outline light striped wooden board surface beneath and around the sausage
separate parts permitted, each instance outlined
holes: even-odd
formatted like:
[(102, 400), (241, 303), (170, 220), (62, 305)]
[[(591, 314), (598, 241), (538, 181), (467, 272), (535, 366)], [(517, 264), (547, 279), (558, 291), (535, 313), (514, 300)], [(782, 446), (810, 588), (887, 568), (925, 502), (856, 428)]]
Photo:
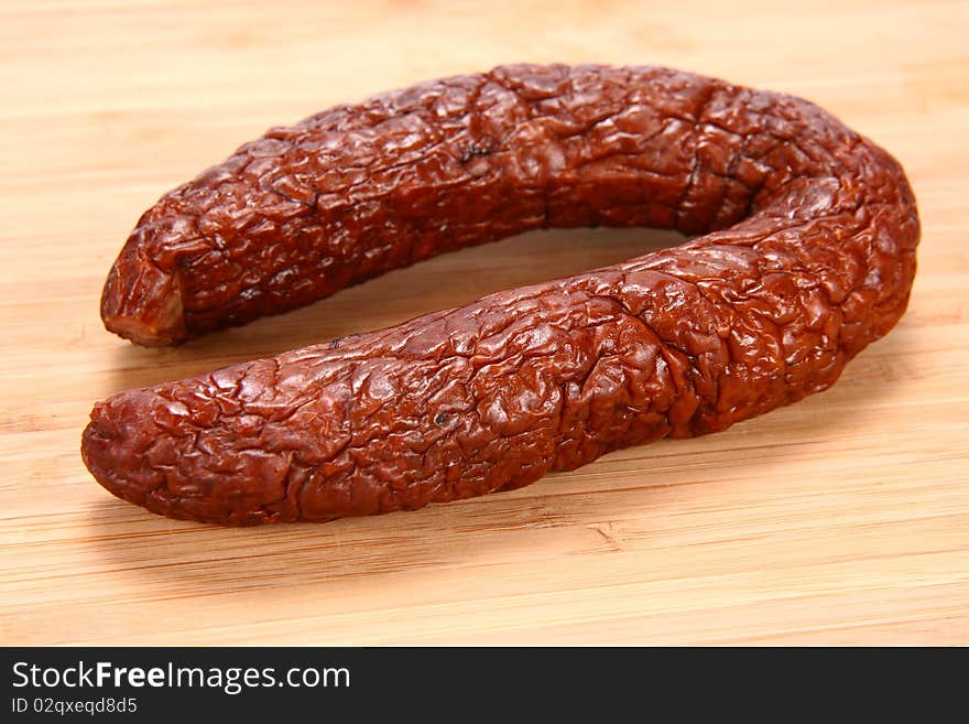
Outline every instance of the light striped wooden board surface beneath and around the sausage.
[[(969, 644), (965, 2), (0, 3), (2, 644)], [(178, 349), (105, 332), (141, 212), (272, 125), (513, 61), (656, 63), (810, 98), (890, 149), (910, 312), (828, 392), (522, 490), (326, 526), (102, 490), (91, 403), (669, 244), (544, 233)]]

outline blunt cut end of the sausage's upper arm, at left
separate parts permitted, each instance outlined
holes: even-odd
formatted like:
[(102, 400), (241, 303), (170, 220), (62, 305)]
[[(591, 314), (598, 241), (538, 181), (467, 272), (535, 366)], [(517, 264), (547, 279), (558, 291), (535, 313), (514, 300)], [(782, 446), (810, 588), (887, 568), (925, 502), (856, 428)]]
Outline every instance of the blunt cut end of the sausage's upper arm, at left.
[(111, 268), (101, 294), (105, 326), (149, 347), (184, 342), (188, 332), (177, 274), (127, 251)]

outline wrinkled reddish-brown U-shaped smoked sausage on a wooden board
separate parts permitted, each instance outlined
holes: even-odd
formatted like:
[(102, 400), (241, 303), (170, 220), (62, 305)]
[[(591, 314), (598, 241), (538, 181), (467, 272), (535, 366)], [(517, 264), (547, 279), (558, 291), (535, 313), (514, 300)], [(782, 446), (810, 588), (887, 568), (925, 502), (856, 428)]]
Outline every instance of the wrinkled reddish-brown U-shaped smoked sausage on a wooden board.
[(535, 227), (674, 249), (97, 404), (88, 468), (196, 520), (330, 520), (532, 483), (830, 386), (903, 314), (900, 165), (820, 108), (662, 68), (510, 66), (338, 107), (166, 195), (111, 270), (144, 344)]

